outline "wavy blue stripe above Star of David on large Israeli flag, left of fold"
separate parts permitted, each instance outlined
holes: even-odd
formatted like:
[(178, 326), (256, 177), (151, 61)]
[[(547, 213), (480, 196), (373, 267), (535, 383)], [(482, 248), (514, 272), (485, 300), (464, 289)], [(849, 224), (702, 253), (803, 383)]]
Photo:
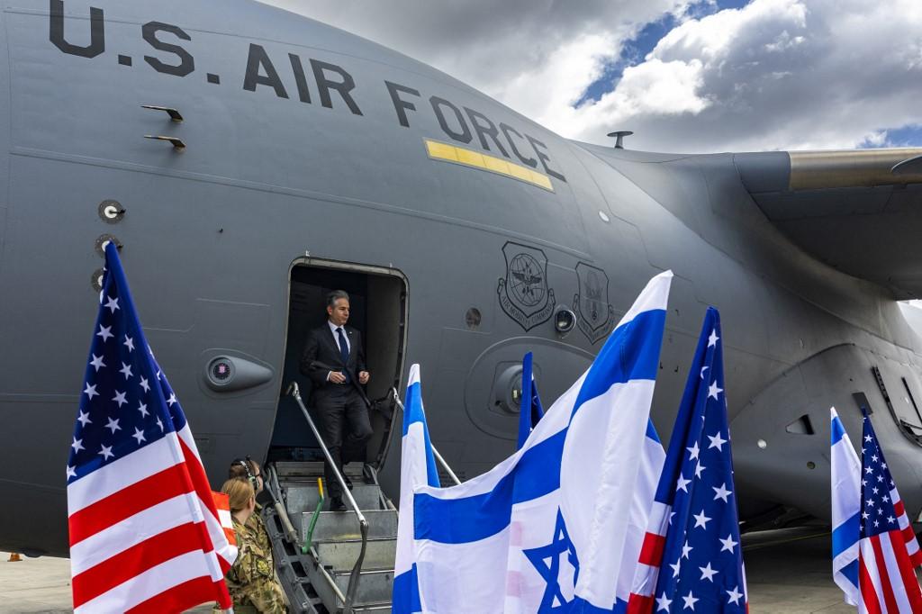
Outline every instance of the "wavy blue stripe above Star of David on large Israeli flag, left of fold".
[(512, 518), (513, 504), (531, 501), (561, 487), (561, 455), (566, 429), (537, 443), (490, 492), (463, 499), (413, 497), (414, 537), (464, 544), (496, 535)]

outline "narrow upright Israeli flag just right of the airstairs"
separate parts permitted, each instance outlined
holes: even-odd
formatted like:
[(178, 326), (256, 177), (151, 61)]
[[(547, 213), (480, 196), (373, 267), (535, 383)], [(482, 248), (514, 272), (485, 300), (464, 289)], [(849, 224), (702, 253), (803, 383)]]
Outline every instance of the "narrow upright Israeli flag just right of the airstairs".
[(422, 407), (420, 365), (409, 368), (404, 403), (403, 441), (400, 446), (400, 515), (397, 518), (397, 551), (394, 564), (394, 612), (420, 612), (416, 544), (413, 541), (413, 490), (439, 488), (439, 472), (429, 441), (426, 412)]

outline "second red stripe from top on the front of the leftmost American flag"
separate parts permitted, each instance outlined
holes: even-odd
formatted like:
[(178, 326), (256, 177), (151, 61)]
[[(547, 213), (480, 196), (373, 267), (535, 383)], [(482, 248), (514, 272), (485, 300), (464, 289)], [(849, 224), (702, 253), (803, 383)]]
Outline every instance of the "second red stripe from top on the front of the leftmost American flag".
[[(193, 523), (175, 526), (78, 573), (73, 581), (74, 608), (147, 572), (151, 567), (196, 550), (198, 531), (199, 527)], [(210, 579), (208, 582), (210, 584)]]

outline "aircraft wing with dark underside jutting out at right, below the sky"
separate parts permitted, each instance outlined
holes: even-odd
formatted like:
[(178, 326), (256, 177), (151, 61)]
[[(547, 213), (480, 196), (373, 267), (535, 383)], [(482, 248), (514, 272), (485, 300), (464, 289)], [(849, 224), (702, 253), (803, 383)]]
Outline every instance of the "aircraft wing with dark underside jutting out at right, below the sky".
[(922, 297), (922, 148), (734, 155), (743, 185), (803, 250)]

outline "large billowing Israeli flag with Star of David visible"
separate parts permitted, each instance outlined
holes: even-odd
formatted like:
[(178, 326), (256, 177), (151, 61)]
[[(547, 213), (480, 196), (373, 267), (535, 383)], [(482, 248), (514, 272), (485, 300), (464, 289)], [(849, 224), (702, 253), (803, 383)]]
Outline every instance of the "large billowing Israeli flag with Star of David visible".
[(439, 489), (420, 452), (404, 458), (393, 611), (624, 611), (663, 464), (649, 413), (671, 280), (647, 284), (588, 372), (490, 472)]

